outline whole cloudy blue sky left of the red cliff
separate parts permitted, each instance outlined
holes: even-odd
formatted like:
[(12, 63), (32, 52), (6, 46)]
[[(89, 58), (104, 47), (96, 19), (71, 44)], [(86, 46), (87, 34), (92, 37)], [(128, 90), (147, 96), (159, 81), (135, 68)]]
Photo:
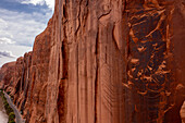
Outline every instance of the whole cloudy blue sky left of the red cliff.
[(53, 9), (54, 0), (0, 0), (0, 67), (33, 50)]

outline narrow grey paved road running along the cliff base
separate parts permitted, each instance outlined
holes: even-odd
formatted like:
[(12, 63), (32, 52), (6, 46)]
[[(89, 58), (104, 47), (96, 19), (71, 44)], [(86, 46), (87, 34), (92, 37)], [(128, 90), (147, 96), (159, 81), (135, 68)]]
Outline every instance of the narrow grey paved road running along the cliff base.
[(16, 109), (16, 106), (13, 104), (12, 100), (10, 99), (9, 95), (4, 93), (4, 97), (7, 98), (7, 101), (9, 102), (10, 107), (13, 109), (16, 118), (16, 123), (25, 123), (24, 120), (21, 116), (21, 113)]

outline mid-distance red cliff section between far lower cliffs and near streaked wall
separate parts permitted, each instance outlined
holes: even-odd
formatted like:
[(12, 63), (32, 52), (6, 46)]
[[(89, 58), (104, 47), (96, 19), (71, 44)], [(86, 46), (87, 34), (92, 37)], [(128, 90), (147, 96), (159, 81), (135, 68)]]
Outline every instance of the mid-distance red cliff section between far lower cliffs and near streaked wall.
[(34, 44), (27, 100), (24, 110), (25, 119), (30, 123), (46, 122), (50, 50), (53, 47), (51, 37), (52, 20), (49, 21), (45, 32), (36, 37)]

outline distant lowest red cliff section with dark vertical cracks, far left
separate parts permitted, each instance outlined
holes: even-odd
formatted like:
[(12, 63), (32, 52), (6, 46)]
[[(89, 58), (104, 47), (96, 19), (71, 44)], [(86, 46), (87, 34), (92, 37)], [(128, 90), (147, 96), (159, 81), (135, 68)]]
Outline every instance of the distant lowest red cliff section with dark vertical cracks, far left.
[(24, 58), (18, 58), (16, 62), (4, 64), (0, 74), (2, 77), (1, 88), (12, 98), (12, 101), (21, 112), (24, 111), (27, 99), (28, 74), (32, 63), (32, 52), (25, 53)]

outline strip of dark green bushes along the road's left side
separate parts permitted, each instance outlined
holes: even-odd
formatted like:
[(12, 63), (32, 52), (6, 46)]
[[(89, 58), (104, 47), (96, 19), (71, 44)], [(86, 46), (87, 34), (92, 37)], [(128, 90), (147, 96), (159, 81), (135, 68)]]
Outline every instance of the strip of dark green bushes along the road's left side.
[(9, 122), (8, 123), (15, 123), (15, 114), (14, 114), (12, 108), (10, 107), (10, 104), (8, 103), (7, 98), (4, 97), (4, 94), (2, 93), (2, 90), (0, 90), (0, 96), (3, 100), (5, 112), (9, 115)]

